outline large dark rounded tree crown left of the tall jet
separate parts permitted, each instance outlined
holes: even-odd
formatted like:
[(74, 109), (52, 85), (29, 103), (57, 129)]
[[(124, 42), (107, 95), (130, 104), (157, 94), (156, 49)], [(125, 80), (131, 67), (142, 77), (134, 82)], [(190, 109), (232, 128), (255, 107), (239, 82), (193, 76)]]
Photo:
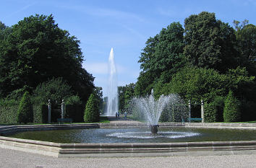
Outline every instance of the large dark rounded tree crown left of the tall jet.
[(52, 15), (25, 17), (0, 40), (0, 92), (27, 86), (30, 91), (53, 77), (62, 77), (86, 101), (93, 76), (82, 68), (77, 37), (61, 30)]

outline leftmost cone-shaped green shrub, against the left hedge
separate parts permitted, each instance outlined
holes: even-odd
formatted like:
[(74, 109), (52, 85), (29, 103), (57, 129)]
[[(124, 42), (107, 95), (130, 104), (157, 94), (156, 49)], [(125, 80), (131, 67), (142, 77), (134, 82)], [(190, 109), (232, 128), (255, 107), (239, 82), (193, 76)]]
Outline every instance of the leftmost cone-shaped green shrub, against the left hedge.
[(23, 94), (17, 112), (17, 123), (33, 123), (33, 106), (28, 92)]

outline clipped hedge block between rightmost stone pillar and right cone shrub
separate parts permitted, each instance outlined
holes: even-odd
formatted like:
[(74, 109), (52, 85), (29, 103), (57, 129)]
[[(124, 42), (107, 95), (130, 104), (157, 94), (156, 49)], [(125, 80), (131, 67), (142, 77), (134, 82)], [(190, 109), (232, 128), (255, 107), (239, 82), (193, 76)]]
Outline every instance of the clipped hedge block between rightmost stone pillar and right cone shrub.
[(205, 122), (206, 123), (213, 123), (217, 121), (217, 108), (214, 102), (205, 103), (204, 105), (205, 110)]

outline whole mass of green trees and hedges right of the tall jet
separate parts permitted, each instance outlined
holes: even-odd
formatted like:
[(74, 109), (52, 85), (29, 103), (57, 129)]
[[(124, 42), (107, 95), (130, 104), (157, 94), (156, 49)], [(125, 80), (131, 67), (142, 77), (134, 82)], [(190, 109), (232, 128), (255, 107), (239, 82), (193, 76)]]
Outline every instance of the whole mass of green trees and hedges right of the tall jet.
[[(145, 43), (133, 96), (154, 89), (156, 98), (174, 93), (192, 103), (204, 100), (208, 122), (256, 120), (255, 40), (256, 27), (247, 20), (231, 27), (201, 12), (186, 18), (184, 27), (172, 22)], [(231, 101), (237, 105), (232, 110)]]

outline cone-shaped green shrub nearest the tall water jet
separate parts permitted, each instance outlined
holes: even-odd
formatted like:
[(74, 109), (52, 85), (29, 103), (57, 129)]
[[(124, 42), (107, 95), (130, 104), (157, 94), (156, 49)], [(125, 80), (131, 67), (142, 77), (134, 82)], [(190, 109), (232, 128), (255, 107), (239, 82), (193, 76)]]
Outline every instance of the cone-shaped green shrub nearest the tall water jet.
[(89, 100), (86, 103), (84, 121), (86, 123), (98, 122), (100, 119), (100, 112), (98, 107), (98, 100), (94, 94), (90, 94)]

